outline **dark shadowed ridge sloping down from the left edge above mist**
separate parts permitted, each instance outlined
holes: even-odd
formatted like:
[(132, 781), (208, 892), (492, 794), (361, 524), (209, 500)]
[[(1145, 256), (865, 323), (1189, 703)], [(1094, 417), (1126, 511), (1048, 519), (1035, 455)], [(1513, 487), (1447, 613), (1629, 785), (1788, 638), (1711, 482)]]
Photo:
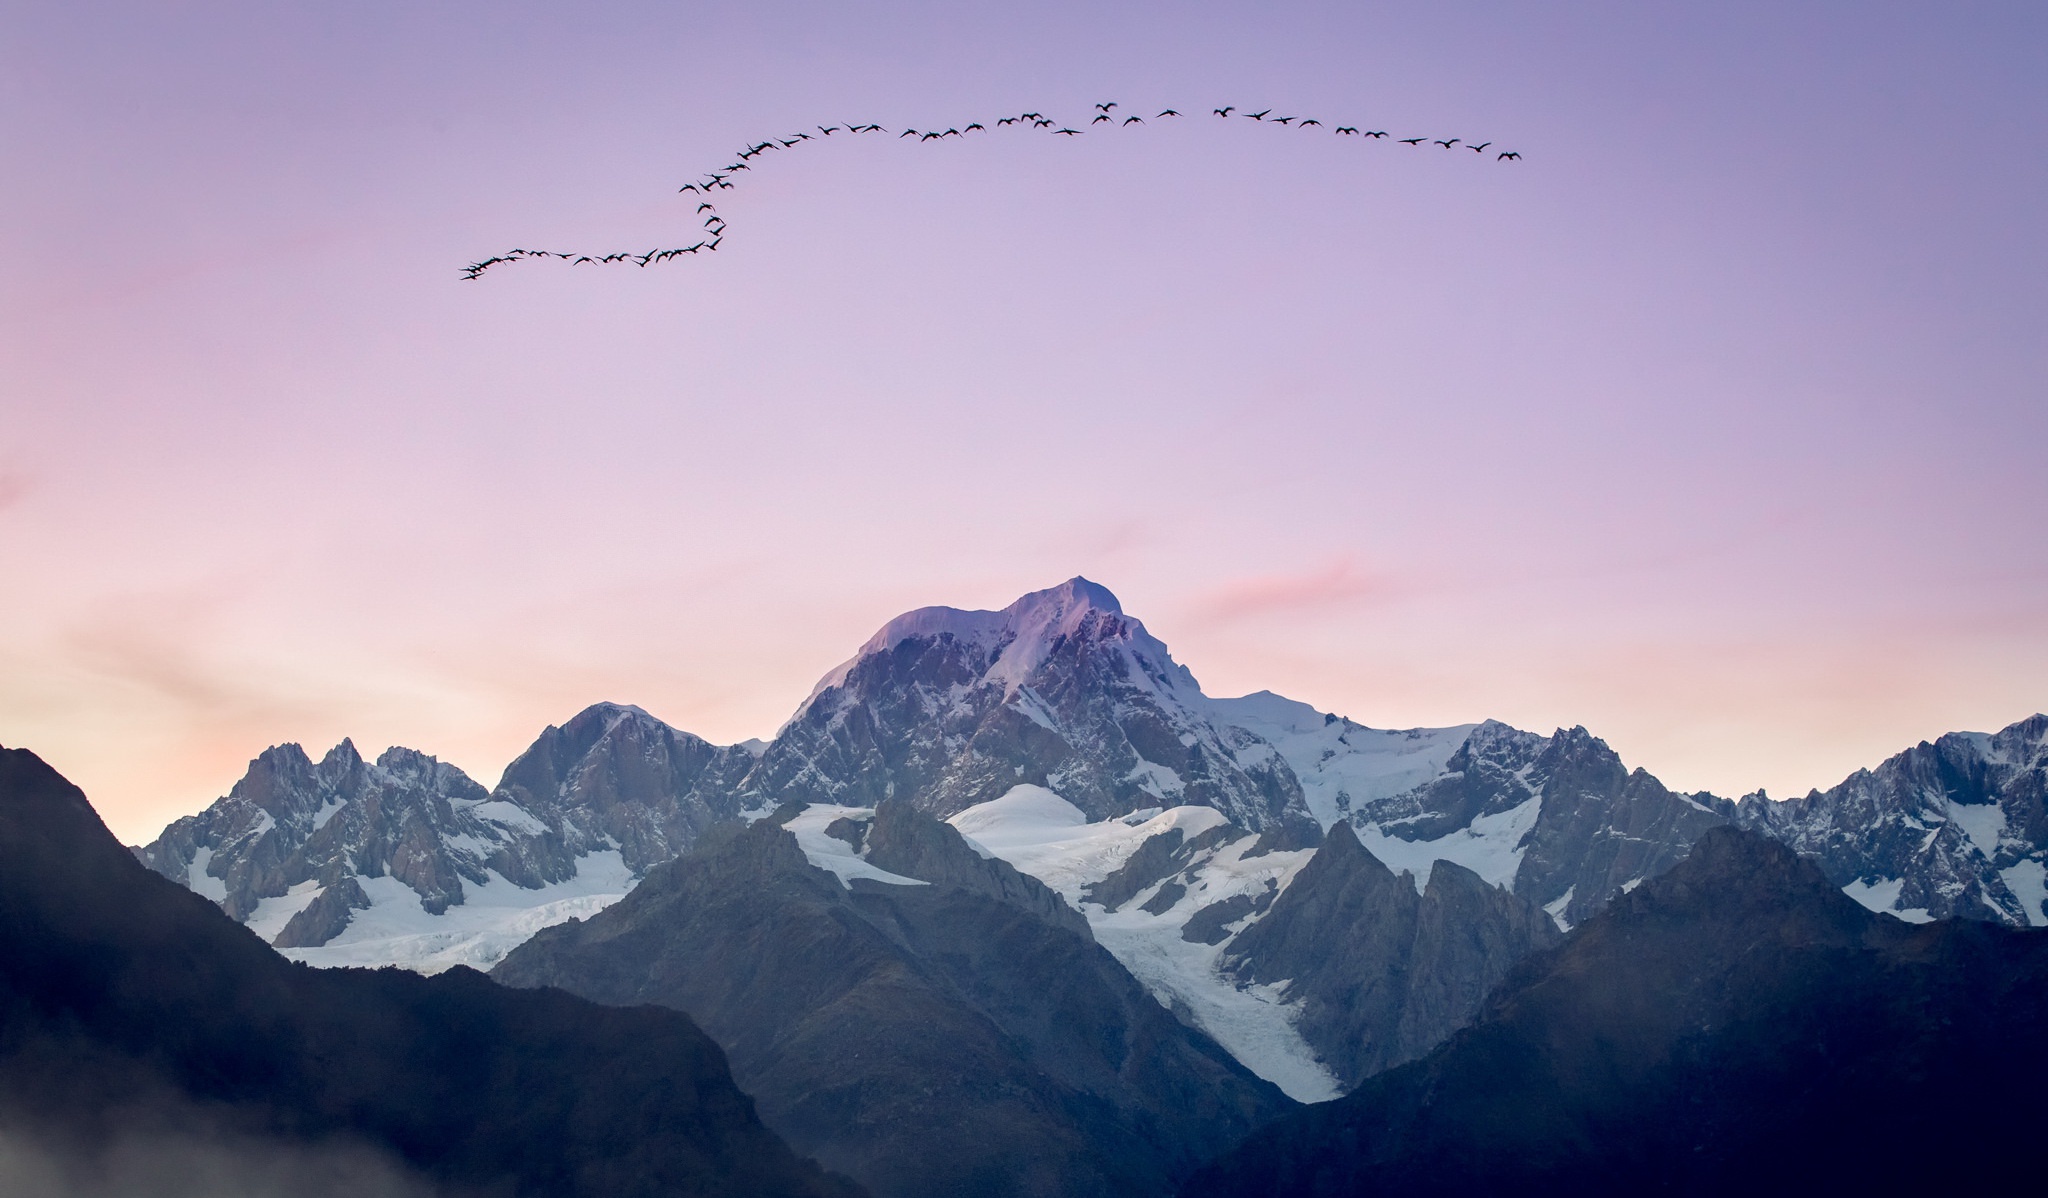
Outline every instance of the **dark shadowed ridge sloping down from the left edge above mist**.
[(0, 750), (0, 1126), (137, 1122), (352, 1145), (440, 1194), (858, 1194), (758, 1122), (688, 1018), (293, 965)]

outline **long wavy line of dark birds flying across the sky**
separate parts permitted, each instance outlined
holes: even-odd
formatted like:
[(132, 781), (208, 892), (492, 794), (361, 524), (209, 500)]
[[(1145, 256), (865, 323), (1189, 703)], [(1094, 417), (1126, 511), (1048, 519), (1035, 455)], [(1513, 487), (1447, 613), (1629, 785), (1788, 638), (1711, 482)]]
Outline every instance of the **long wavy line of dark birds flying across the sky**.
[[(1069, 125), (1065, 125), (1061, 121), (1055, 121), (1053, 117), (1047, 117), (1044, 113), (1018, 113), (1016, 117), (999, 117), (995, 121), (995, 127), (997, 129), (1012, 129), (1012, 127), (1014, 129), (1026, 129), (1026, 131), (1036, 131), (1036, 133), (1049, 133), (1053, 137), (1081, 137), (1083, 133), (1092, 131), (1096, 125), (1108, 125), (1110, 129), (1128, 129), (1133, 125), (1145, 125), (1147, 123), (1145, 117), (1139, 117), (1139, 115), (1133, 115), (1133, 113), (1122, 113), (1120, 115), (1118, 113), (1120, 106), (1122, 104), (1118, 104), (1116, 100), (1104, 100), (1104, 102), (1096, 104), (1094, 117), (1090, 117), (1087, 121), (1083, 121), (1081, 129), (1075, 129), (1075, 127), (1069, 127)], [(1464, 141), (1462, 137), (1391, 137), (1391, 133), (1386, 133), (1386, 129), (1362, 129), (1358, 125), (1323, 125), (1323, 121), (1317, 121), (1315, 117), (1274, 117), (1274, 109), (1262, 109), (1257, 113), (1239, 113), (1237, 104), (1229, 104), (1229, 106), (1223, 106), (1223, 109), (1214, 109), (1214, 115), (1221, 117), (1221, 119), (1225, 119), (1225, 121), (1231, 121), (1231, 119), (1237, 119), (1237, 121), (1257, 121), (1260, 125), (1268, 125), (1268, 127), (1274, 127), (1274, 129), (1329, 129), (1337, 137), (1358, 137), (1358, 139), (1366, 139), (1366, 141), (1386, 141), (1386, 139), (1393, 139), (1399, 145), (1411, 145), (1411, 147), (1440, 145), (1444, 149), (1470, 149), (1473, 154), (1479, 154), (1481, 158), (1485, 158), (1487, 152), (1491, 149), (1493, 152), (1493, 162), (1516, 162), (1516, 160), (1522, 158), (1522, 154), (1518, 154), (1513, 149), (1493, 149), (1493, 141), (1477, 141), (1477, 143), (1473, 143), (1473, 141)], [(1155, 117), (1151, 117), (1151, 121), (1171, 121), (1171, 119), (1178, 119), (1178, 117), (1180, 117), (1180, 113), (1176, 109), (1163, 109)], [(647, 250), (645, 254), (633, 254), (633, 252), (623, 252), (623, 250), (614, 252), (614, 254), (563, 254), (563, 252), (557, 252), (557, 250), (506, 250), (504, 254), (496, 254), (496, 256), (485, 258), (481, 262), (471, 262), (469, 266), (463, 268), (463, 279), (481, 279), (483, 272), (489, 270), (492, 266), (504, 266), (508, 262), (526, 262), (526, 260), (535, 260), (535, 258), (557, 258), (561, 262), (571, 262), (571, 264), (578, 264), (578, 266), (586, 266), (586, 264), (590, 264), (590, 266), (612, 266), (612, 264), (623, 264), (623, 262), (633, 262), (635, 266), (653, 266), (655, 262), (668, 262), (672, 258), (682, 258), (684, 254), (713, 254), (713, 252), (717, 252), (719, 242), (725, 238), (725, 217), (719, 215), (719, 205), (713, 203), (713, 197), (717, 192), (721, 192), (721, 190), (733, 190), (733, 186), (735, 186), (733, 180), (741, 172), (752, 172), (754, 166), (756, 166), (756, 162), (760, 162), (764, 156), (768, 156), (768, 154), (780, 154), (784, 149), (797, 149), (805, 141), (823, 141), (823, 139), (827, 139), (827, 137), (831, 137), (836, 133), (848, 133), (848, 135), (889, 133), (881, 125), (872, 125), (872, 123), (856, 125), (852, 121), (848, 121), (844, 125), (815, 125), (815, 129), (817, 129), (817, 133), (786, 133), (782, 137), (770, 137), (766, 141), (750, 143), (743, 149), (739, 149), (739, 154), (735, 156), (735, 160), (731, 164), (721, 166), (719, 170), (707, 172), (696, 182), (682, 184), (678, 188), (678, 192), (686, 192), (686, 195), (694, 195), (696, 197), (696, 201), (698, 201), (696, 215), (700, 217), (700, 223), (702, 223), (702, 229), (705, 229), (705, 236), (700, 240), (688, 244), (688, 246), (676, 246), (672, 250)], [(981, 121), (973, 121), (969, 125), (948, 127), (948, 129), (903, 129), (901, 133), (895, 135), (895, 139), (901, 141), (905, 137), (911, 137), (911, 139), (915, 139), (915, 141), (922, 143), (922, 141), (944, 141), (946, 137), (969, 137), (969, 135), (979, 135), (979, 133), (989, 133), (989, 127), (983, 125)]]

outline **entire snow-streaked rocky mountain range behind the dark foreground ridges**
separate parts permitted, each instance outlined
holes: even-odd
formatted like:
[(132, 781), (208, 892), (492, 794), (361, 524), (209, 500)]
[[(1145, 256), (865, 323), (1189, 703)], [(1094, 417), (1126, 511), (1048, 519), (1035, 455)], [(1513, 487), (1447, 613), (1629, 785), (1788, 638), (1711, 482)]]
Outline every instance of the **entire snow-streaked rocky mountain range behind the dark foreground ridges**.
[[(598, 704), (492, 790), (412, 750), (283, 745), (137, 854), (299, 960), (487, 969), (721, 829), (901, 805), (1040, 883), (1188, 1030), (1317, 1102), (1432, 1051), (1518, 960), (1722, 825), (1901, 919), (2048, 924), (2044, 793), (2044, 717), (1778, 803), (1673, 793), (1579, 727), (1370, 729), (1210, 698), (1069, 580), (891, 621), (766, 743)], [(829, 874), (819, 840), (838, 844), (803, 858)]]

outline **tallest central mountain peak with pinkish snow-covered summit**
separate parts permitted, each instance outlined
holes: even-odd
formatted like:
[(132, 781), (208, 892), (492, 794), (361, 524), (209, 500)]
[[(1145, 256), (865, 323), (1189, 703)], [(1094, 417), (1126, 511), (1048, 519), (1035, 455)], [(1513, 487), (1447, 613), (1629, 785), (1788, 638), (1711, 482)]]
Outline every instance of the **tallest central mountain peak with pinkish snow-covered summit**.
[(1075, 577), (999, 612), (889, 621), (817, 684), (745, 793), (760, 805), (899, 797), (952, 815), (1030, 784), (1092, 819), (1200, 805), (1313, 842), (1294, 772), (1206, 702), (1116, 596)]

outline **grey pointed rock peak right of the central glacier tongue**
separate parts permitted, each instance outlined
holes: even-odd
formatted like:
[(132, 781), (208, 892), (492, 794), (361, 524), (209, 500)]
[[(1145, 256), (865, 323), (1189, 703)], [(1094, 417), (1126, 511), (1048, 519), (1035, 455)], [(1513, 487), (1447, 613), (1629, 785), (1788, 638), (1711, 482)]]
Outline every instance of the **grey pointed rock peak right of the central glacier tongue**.
[(1452, 862), (1436, 862), (1417, 895), (1339, 823), (1221, 965), (1288, 983), (1294, 1026), (1352, 1087), (1468, 1024), (1493, 983), (1554, 940), (1548, 915)]

